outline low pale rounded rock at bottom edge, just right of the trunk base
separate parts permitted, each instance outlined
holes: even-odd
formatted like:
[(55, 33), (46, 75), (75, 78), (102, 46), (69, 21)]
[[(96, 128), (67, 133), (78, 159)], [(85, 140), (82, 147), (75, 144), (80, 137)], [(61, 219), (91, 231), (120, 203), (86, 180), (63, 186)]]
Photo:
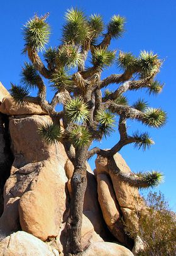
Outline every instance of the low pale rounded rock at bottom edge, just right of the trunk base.
[(90, 247), (85, 250), (82, 256), (133, 256), (127, 248), (116, 243), (97, 242), (92, 243)]

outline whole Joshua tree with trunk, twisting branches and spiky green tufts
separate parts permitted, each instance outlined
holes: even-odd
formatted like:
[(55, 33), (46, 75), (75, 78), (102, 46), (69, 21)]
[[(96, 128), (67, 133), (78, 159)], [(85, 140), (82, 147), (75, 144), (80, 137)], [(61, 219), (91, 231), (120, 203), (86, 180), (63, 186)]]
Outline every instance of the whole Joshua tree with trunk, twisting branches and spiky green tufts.
[[(145, 150), (154, 143), (146, 132), (136, 131), (129, 135), (126, 120), (138, 120), (144, 125), (159, 128), (165, 124), (165, 112), (160, 108), (148, 108), (143, 99), (129, 106), (123, 94), (141, 88), (147, 89), (149, 94), (160, 93), (163, 85), (154, 79), (162, 61), (157, 54), (146, 51), (140, 52), (138, 57), (131, 52), (119, 52), (116, 57), (116, 50), (109, 50), (109, 45), (111, 40), (123, 35), (125, 19), (114, 15), (105, 27), (100, 15), (86, 17), (78, 9), (70, 9), (65, 14), (62, 43), (55, 48), (45, 48), (50, 36), (47, 17), (48, 14), (35, 15), (23, 27), (23, 53), (28, 54), (30, 62), (26, 62), (22, 70), (23, 86), (12, 84), (11, 95), (19, 104), (39, 104), (50, 115), (52, 123), (41, 126), (39, 133), (47, 143), (63, 143), (74, 165), (67, 245), (70, 255), (78, 255), (82, 251), (80, 228), (87, 186), (86, 162), (98, 154), (113, 163), (113, 155), (124, 145), (134, 143), (135, 147)], [(43, 52), (47, 67), (39, 52)], [(89, 67), (87, 57), (91, 62)], [(102, 71), (114, 63), (122, 70), (121, 74), (101, 79)], [(46, 100), (43, 77), (55, 91), (51, 102)], [(110, 84), (114, 84), (114, 91), (104, 91)], [(28, 89), (34, 87), (38, 89), (38, 96), (31, 97)], [(55, 110), (57, 104), (63, 107), (61, 111)], [(119, 141), (109, 150), (90, 149), (94, 140), (109, 136), (115, 129), (116, 116)], [(111, 171), (135, 187), (155, 186), (162, 179), (162, 174), (155, 171), (127, 176), (113, 164)]]

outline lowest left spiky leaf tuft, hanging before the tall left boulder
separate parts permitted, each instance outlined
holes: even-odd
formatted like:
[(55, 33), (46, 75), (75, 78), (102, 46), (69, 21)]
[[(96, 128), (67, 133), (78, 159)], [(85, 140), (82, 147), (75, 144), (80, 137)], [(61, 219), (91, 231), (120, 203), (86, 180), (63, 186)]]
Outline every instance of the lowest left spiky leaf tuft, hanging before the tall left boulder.
[(62, 134), (62, 131), (60, 130), (60, 126), (55, 125), (54, 123), (47, 123), (45, 125), (42, 125), (38, 129), (38, 133), (47, 144), (60, 142), (62, 141), (62, 138), (63, 138), (63, 134)]

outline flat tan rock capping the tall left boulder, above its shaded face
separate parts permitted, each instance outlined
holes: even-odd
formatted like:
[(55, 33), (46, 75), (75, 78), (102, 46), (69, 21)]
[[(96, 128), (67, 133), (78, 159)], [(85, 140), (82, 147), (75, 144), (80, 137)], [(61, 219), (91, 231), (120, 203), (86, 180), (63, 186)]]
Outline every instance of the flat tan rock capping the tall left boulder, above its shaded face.
[(8, 114), (8, 116), (16, 116), (18, 114), (46, 114), (38, 104), (27, 103), (20, 105), (15, 103), (11, 96), (3, 98), (0, 105), (0, 112)]

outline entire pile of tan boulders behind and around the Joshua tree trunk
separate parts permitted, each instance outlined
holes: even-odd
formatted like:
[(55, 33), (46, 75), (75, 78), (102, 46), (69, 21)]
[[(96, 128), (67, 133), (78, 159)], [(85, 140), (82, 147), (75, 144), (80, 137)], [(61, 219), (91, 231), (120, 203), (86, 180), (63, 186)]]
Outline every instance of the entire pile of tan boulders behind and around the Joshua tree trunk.
[[(64, 255), (74, 167), (62, 144), (48, 146), (38, 135), (49, 121), (40, 106), (14, 103), (0, 84), (0, 256)], [(119, 153), (114, 160), (131, 171)], [(130, 221), (138, 190), (111, 174), (102, 157), (94, 172), (87, 164), (87, 179), (83, 255), (135, 255), (143, 245), (126, 235), (123, 221)]]

